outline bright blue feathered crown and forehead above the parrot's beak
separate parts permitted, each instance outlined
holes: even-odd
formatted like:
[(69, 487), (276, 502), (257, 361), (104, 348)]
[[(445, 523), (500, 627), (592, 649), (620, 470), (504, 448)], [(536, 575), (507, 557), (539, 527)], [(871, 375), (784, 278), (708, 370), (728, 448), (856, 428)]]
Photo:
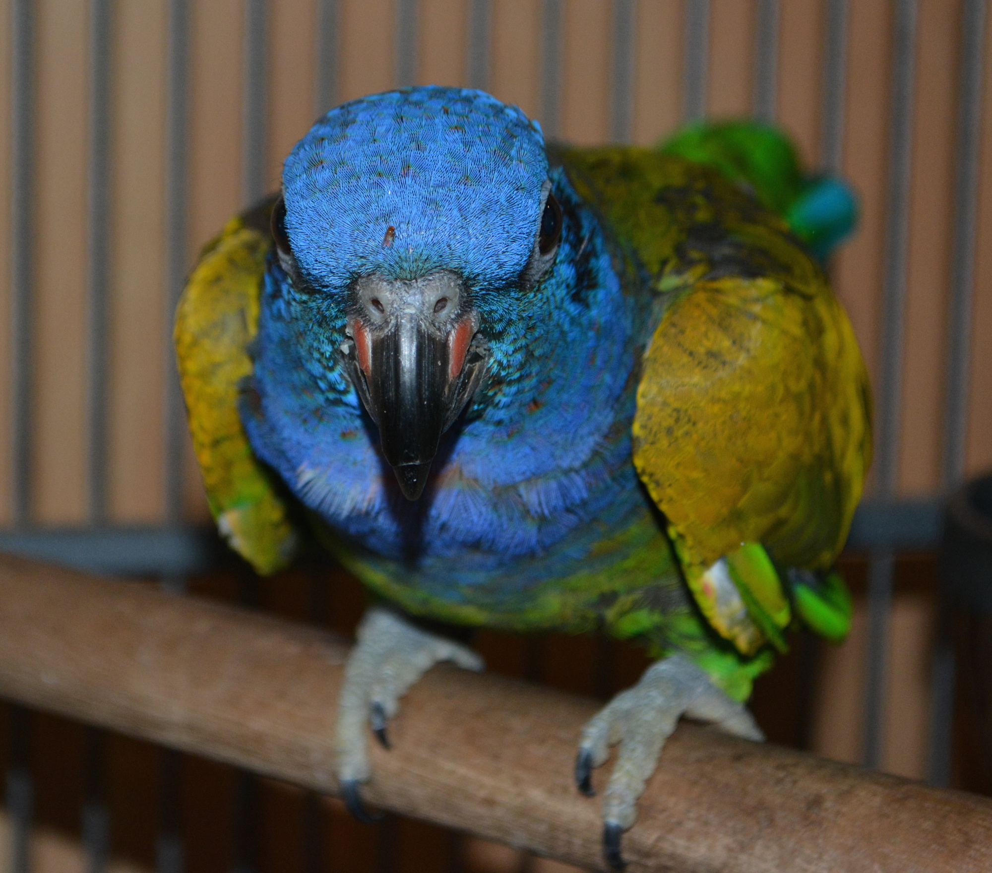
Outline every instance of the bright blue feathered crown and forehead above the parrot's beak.
[(293, 150), (286, 227), (321, 290), (442, 267), (498, 286), (531, 255), (547, 177), (544, 138), (515, 106), (434, 85), (376, 94), (332, 109)]

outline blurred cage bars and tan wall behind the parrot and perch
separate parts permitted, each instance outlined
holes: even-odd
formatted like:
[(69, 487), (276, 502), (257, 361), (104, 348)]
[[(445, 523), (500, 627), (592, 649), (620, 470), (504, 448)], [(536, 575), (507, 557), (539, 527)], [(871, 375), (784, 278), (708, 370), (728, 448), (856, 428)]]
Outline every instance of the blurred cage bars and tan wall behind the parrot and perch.
[[(935, 561), (944, 496), (992, 466), (984, 0), (0, 0), (0, 28), (0, 550), (350, 633), (342, 571), (258, 579), (201, 533), (170, 341), (200, 247), (279, 185), (318, 114), (397, 85), (484, 88), (582, 144), (755, 115), (861, 196), (831, 273), (877, 437), (843, 559), (853, 633), (797, 639), (755, 709), (777, 742), (989, 789)], [(479, 647), (600, 696), (645, 664), (584, 638)], [(0, 724), (15, 873), (565, 869), (43, 713)]]

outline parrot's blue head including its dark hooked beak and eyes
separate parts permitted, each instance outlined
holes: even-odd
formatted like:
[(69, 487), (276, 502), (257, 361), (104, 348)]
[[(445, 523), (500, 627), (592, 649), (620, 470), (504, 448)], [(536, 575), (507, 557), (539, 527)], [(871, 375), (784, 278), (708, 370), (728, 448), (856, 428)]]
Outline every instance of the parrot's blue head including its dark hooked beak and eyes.
[(535, 290), (561, 225), (540, 127), (482, 91), (345, 103), (287, 159), (272, 229), (294, 340), (347, 375), (408, 499), (500, 344), (551, 305)]

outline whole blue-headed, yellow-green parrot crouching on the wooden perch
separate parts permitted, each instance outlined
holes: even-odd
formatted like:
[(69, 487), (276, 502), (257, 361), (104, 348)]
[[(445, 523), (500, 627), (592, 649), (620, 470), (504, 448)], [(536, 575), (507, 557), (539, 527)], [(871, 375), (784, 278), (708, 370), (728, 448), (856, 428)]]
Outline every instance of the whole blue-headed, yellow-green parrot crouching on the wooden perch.
[(331, 109), (207, 244), (175, 344), (217, 529), (263, 574), (316, 541), (370, 594), (333, 727), (356, 817), (406, 691), (483, 669), (456, 629), (647, 648), (577, 737), (583, 795), (615, 754), (612, 869), (682, 716), (763, 739), (790, 632), (850, 624), (870, 394), (823, 262), (856, 213), (770, 125), (579, 148), (423, 85)]

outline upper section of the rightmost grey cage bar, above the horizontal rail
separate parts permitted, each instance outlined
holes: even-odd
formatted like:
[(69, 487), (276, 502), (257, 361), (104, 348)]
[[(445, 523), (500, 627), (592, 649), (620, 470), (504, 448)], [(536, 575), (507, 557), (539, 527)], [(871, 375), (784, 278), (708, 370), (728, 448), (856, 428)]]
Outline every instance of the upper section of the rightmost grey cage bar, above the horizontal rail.
[(957, 178), (954, 181), (954, 239), (950, 265), (947, 399), (943, 484), (950, 489), (964, 472), (968, 361), (971, 356), (971, 298), (978, 215), (978, 155), (982, 128), (982, 70), (985, 62), (985, 0), (965, 0), (961, 17), (958, 86)]

